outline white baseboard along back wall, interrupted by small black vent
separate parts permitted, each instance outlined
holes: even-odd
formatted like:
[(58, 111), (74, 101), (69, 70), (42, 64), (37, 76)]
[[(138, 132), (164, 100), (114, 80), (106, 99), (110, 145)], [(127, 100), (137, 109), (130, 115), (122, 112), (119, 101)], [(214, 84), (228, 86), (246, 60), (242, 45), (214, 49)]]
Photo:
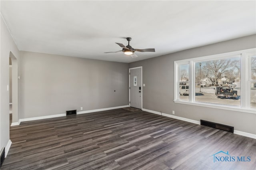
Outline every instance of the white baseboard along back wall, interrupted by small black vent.
[[(89, 111), (80, 111), (77, 112), (77, 115), (84, 114), (84, 113), (92, 113), (92, 112), (98, 112), (98, 111), (108, 111), (112, 109), (119, 109), (123, 107), (129, 107), (129, 105), (124, 105), (124, 106), (117, 106), (117, 107), (109, 107), (109, 108), (104, 108), (104, 109), (94, 109), (94, 110), (89, 110)], [(20, 122), (26, 122), (26, 121), (35, 121), (35, 120), (40, 120), (40, 119), (49, 119), (49, 118), (54, 118), (54, 117), (63, 117), (66, 116), (66, 113), (58, 114), (58, 115), (48, 115), (48, 116), (40, 116), (40, 117), (30, 117), (30, 118), (25, 118), (25, 119), (20, 119), (19, 124), (14, 123), (13, 126), (15, 125), (20, 125)], [(12, 126), (12, 125), (11, 125)]]

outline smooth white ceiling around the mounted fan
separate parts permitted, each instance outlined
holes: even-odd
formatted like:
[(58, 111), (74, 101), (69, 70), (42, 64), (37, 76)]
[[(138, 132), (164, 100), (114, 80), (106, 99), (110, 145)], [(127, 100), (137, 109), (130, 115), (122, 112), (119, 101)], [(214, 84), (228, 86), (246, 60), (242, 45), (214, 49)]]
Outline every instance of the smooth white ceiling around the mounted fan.
[[(256, 34), (256, 1), (3, 1), (19, 50), (130, 63)], [(137, 49), (131, 58), (115, 42)]]

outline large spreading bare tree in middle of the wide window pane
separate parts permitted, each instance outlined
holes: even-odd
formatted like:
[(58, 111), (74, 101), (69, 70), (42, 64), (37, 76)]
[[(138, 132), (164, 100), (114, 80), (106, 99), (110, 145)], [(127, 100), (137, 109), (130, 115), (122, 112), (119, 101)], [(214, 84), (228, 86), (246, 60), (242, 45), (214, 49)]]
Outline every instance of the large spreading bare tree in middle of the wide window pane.
[(206, 62), (206, 66), (213, 75), (215, 84), (217, 83), (217, 80), (222, 76), (222, 74), (228, 71), (230, 63), (230, 59), (220, 59)]

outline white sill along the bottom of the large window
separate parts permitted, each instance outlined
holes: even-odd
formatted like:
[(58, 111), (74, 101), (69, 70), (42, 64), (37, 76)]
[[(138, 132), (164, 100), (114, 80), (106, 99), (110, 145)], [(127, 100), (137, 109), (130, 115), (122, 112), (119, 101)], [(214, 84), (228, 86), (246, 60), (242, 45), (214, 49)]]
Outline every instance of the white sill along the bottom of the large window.
[(214, 104), (209, 104), (209, 103), (189, 102), (189, 101), (180, 101), (180, 100), (174, 100), (174, 103), (256, 114), (256, 109), (242, 109), (239, 106), (214, 105)]

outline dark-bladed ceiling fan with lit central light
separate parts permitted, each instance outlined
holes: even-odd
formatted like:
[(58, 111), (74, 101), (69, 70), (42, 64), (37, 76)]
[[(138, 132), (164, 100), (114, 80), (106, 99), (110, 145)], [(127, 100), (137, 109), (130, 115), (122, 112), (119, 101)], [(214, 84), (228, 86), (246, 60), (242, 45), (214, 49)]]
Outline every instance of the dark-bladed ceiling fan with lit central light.
[[(130, 55), (132, 58), (138, 57), (136, 54), (134, 54), (135, 51), (139, 51), (139, 52), (155, 52), (154, 48), (147, 48), (147, 49), (135, 49), (130, 45), (130, 41), (132, 40), (132, 38), (128, 37), (126, 38), (126, 40), (128, 41), (128, 45), (125, 46), (122, 43), (116, 43), (118, 44), (120, 47), (122, 47), (123, 49), (120, 51), (123, 51), (126, 55)], [(119, 52), (119, 51), (116, 51)], [(105, 53), (116, 53), (116, 52), (105, 52)]]

